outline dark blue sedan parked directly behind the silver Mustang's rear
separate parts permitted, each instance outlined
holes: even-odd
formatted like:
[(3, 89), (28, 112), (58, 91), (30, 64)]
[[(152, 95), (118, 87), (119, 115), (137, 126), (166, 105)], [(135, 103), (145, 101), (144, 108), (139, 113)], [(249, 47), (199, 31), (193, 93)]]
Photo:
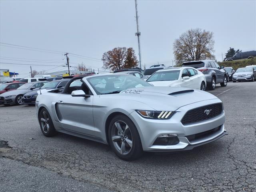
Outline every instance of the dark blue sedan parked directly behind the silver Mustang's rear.
[[(56, 80), (56, 81), (51, 81), (47, 82), (40, 88), (40, 90), (46, 89), (46, 90), (52, 90), (56, 88), (64, 88), (66, 83), (68, 82), (68, 79), (62, 79), (62, 80)], [(28, 105), (34, 105), (36, 102), (36, 97), (38, 96), (38, 89), (27, 92), (24, 94), (23, 99), (22, 99), (22, 104), (28, 104)]]

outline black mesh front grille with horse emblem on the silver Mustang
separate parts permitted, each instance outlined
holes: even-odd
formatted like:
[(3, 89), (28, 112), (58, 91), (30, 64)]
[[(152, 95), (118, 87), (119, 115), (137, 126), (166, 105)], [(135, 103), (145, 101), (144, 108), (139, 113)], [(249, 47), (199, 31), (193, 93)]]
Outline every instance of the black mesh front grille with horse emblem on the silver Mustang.
[[(210, 110), (210, 112), (207, 115), (207, 110)], [(195, 108), (192, 110), (189, 110), (184, 117), (182, 118), (181, 122), (183, 125), (190, 124), (190, 123), (196, 123), (204, 120), (208, 120), (210, 118), (216, 117), (222, 112), (222, 104), (212, 104), (212, 105), (206, 105), (203, 107)]]

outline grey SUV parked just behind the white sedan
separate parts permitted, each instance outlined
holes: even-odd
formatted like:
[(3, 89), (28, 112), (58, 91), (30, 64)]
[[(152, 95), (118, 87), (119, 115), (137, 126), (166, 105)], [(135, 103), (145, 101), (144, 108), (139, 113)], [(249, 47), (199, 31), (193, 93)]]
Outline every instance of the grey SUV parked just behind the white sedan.
[(218, 63), (214, 60), (184, 62), (182, 66), (194, 67), (201, 71), (206, 78), (207, 87), (210, 90), (214, 90), (218, 83), (220, 83), (222, 87), (228, 84), (228, 73), (223, 69), (224, 67), (220, 68)]

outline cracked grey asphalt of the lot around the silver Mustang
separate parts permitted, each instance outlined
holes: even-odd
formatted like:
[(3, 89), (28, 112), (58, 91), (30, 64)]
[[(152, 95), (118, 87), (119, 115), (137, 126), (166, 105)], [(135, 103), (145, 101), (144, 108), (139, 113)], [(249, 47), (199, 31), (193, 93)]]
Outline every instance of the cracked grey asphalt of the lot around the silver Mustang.
[(132, 162), (104, 144), (43, 136), (33, 106), (1, 106), (0, 191), (256, 192), (256, 82), (209, 92), (224, 103), (227, 136)]

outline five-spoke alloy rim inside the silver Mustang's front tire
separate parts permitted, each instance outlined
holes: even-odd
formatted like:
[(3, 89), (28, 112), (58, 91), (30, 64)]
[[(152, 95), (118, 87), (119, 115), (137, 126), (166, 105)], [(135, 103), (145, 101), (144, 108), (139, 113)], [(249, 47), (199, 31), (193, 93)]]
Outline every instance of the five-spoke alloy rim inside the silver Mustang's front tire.
[(125, 122), (121, 120), (114, 122), (111, 139), (118, 153), (126, 155), (132, 150), (132, 132)]

